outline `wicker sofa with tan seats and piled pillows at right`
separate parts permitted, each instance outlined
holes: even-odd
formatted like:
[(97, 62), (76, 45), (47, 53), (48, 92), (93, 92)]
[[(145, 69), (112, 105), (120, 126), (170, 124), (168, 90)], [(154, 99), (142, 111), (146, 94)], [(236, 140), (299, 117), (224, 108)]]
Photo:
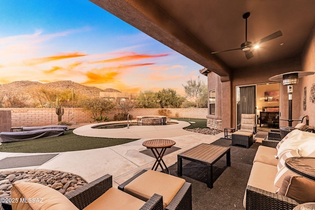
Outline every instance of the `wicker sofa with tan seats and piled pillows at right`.
[[(306, 140), (308, 138), (310, 139), (309, 142)], [(311, 134), (301, 130), (290, 132), (282, 141), (263, 140), (262, 146), (258, 147), (253, 160), (252, 171), (244, 196), (244, 207), (247, 210), (292, 210), (299, 204), (314, 202), (315, 200), (303, 201), (303, 199), (310, 194), (313, 196), (315, 182), (299, 177), (284, 166), (285, 159), (290, 156), (315, 156), (314, 140), (314, 133)], [(298, 141), (301, 141), (298, 146), (299, 149), (289, 149), (293, 147), (290, 146), (290, 142), (295, 142), (294, 144), (298, 145)], [(310, 147), (310, 145), (313, 145), (313, 147)], [(293, 193), (289, 192), (287, 180), (293, 178), (305, 180), (308, 186), (312, 188), (312, 193), (301, 189), (301, 192), (298, 192), (299, 195), (292, 195)], [(302, 193), (302, 191), (304, 192)], [(305, 196), (305, 193), (307, 193), (307, 196)], [(303, 199), (299, 200), (296, 197)]]

